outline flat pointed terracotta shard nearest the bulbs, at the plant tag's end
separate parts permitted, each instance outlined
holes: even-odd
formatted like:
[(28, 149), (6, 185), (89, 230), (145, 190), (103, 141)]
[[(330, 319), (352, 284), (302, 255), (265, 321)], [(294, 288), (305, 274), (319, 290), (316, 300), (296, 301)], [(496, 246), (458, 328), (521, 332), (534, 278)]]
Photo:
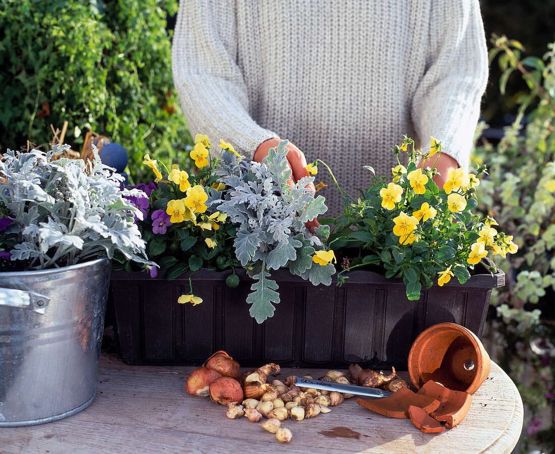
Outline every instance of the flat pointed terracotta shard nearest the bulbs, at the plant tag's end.
[(392, 418), (408, 418), (408, 408), (412, 405), (422, 408), (426, 413), (436, 410), (440, 401), (426, 395), (418, 395), (408, 388), (401, 388), (391, 396), (366, 400), (357, 398), (356, 403), (380, 415)]

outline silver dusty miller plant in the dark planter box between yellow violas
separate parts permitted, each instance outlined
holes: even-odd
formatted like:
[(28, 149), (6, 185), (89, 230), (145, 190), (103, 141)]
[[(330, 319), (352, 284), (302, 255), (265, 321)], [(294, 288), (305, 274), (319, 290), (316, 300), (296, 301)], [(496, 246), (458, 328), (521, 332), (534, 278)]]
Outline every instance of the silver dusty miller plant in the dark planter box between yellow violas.
[[(322, 240), (329, 226), (306, 228), (306, 221), (326, 212), (324, 197), (314, 198), (306, 185), (314, 177), (305, 177), (290, 188), (287, 179), (287, 140), (270, 152), (261, 163), (246, 163), (233, 154), (225, 154), (221, 163), (221, 181), (228, 186), (225, 200), (210, 200), (218, 210), (237, 224), (235, 254), (255, 279), (247, 297), (250, 315), (258, 323), (274, 314), (278, 304), (278, 284), (270, 279), (269, 270), (287, 268), (292, 274), (314, 285), (331, 284), (334, 265), (314, 263), (312, 255), (324, 249)], [(215, 194), (214, 194), (215, 195)]]

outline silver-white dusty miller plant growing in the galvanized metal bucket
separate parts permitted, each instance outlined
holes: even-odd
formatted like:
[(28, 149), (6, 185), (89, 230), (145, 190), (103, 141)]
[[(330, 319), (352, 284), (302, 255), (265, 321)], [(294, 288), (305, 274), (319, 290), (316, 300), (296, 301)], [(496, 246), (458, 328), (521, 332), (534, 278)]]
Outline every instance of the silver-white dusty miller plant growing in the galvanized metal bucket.
[(52, 160), (67, 148), (3, 154), (0, 213), (4, 226), (8, 224), (0, 232), (4, 259), (9, 255), (11, 261), (23, 261), (23, 269), (46, 269), (97, 256), (111, 259), (118, 251), (128, 260), (154, 266), (134, 223), (134, 216), (142, 214), (123, 198), (134, 190), (120, 190), (121, 177), (110, 174), (96, 148), (92, 163)]

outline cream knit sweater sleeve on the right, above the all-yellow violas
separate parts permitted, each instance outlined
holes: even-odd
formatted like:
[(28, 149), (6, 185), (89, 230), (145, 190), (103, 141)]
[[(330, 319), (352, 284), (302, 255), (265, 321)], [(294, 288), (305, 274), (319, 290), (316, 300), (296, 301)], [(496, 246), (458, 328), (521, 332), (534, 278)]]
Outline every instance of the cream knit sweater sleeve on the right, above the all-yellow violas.
[(467, 169), (488, 59), (478, 0), (432, 0), (426, 70), (412, 100), (419, 145), (439, 140)]

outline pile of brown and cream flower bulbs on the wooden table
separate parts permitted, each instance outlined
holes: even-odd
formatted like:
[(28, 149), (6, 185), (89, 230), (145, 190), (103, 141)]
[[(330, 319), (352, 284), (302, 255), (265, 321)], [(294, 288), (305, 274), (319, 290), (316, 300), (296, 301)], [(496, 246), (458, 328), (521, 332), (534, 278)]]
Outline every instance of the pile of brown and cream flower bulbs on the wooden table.
[[(315, 390), (295, 386), (295, 376), (284, 381), (271, 380), (270, 374), (276, 375), (280, 366), (266, 364), (240, 375), (239, 363), (225, 351), (216, 352), (204, 364), (191, 372), (186, 382), (189, 394), (207, 396), (221, 405), (225, 405), (226, 415), (230, 419), (247, 417), (249, 421), (259, 422), (264, 430), (275, 433), (280, 442), (291, 441), (289, 428), (281, 427), (286, 419), (302, 421), (320, 413), (329, 413), (330, 407), (339, 405), (352, 394), (337, 391)], [(349, 384), (343, 372), (329, 371), (319, 380)], [(311, 376), (304, 378), (312, 379)]]

